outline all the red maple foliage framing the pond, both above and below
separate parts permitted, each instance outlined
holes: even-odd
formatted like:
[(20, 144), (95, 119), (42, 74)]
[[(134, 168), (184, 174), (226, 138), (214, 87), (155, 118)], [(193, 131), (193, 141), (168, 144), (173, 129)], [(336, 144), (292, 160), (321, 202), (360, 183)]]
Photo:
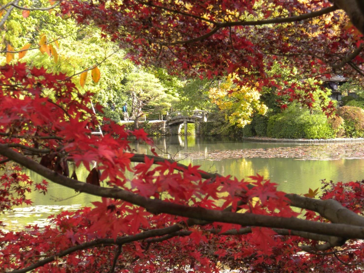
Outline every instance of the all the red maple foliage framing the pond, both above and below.
[[(287, 85), (267, 71), (278, 63), (302, 79), (361, 76), (363, 5), (333, 2), (71, 0), (27, 7), (13, 0), (1, 7), (0, 26), (11, 12), (26, 18), (55, 8), (65, 20), (98, 26), (138, 64), (202, 78), (235, 73), (238, 85), (274, 86), (310, 106), (308, 86)], [(321, 199), (313, 190), (298, 196), (259, 174), (238, 180), (161, 158), (143, 130), (111, 122), (103, 137), (94, 136), (93, 94), (72, 82), (81, 76), (82, 83), (86, 71), (52, 73), (19, 61), (32, 48), (55, 57), (55, 42), (42, 37), (19, 51), (4, 48), (0, 210), (32, 204), (30, 191), (46, 192), (49, 182), (32, 181), (22, 168), (102, 201), (61, 212), (44, 229), (0, 232), (5, 272), (363, 272), (363, 182), (324, 183)], [(95, 82), (98, 65), (87, 69)], [(331, 104), (322, 107), (331, 113)], [(132, 153), (130, 136), (154, 155)], [(83, 164), (86, 181), (69, 164)]]

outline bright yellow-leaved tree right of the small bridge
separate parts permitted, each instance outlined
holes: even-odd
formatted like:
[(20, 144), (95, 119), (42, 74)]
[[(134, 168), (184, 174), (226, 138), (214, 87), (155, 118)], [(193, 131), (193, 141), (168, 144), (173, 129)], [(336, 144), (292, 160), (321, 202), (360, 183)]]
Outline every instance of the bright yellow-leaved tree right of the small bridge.
[(239, 127), (250, 124), (254, 113), (264, 115), (267, 107), (260, 101), (260, 93), (251, 87), (237, 86), (236, 74), (229, 75), (217, 87), (210, 88), (209, 97), (221, 110), (226, 110), (226, 120)]

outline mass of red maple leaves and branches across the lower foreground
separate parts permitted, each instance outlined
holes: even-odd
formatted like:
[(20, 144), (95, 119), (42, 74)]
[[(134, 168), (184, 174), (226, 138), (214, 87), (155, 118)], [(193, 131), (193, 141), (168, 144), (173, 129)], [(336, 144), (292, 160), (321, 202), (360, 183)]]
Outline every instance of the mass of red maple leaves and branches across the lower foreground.
[[(128, 136), (151, 139), (112, 122), (109, 134), (92, 135), (92, 94), (66, 75), (24, 64), (0, 70), (2, 164), (102, 197), (43, 229), (0, 232), (5, 272), (362, 272), (362, 182), (324, 183), (318, 200), (277, 191), (260, 175), (238, 180), (133, 154)], [(88, 168), (87, 183), (68, 162)], [(0, 182), (1, 211), (31, 204), (32, 190), (46, 193), (46, 181), (14, 165)]]

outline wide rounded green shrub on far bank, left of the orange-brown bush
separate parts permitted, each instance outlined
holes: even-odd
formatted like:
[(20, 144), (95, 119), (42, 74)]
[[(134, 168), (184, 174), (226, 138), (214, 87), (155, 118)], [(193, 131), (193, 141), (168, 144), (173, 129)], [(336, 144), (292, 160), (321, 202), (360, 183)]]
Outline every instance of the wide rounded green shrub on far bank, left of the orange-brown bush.
[(307, 109), (296, 105), (290, 106), (285, 112), (269, 118), (267, 136), (273, 138), (332, 138), (335, 132), (321, 113), (310, 114)]

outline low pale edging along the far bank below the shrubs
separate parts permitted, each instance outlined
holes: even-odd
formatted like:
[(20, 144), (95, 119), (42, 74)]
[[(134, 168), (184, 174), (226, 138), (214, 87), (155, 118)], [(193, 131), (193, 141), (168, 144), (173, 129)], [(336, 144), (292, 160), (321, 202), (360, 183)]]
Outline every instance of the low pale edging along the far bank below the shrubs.
[(243, 140), (254, 142), (291, 142), (291, 143), (309, 143), (309, 144), (328, 144), (328, 143), (362, 143), (363, 137), (358, 138), (329, 138), (329, 139), (290, 139), (290, 138), (270, 138), (270, 137), (242, 137)]

